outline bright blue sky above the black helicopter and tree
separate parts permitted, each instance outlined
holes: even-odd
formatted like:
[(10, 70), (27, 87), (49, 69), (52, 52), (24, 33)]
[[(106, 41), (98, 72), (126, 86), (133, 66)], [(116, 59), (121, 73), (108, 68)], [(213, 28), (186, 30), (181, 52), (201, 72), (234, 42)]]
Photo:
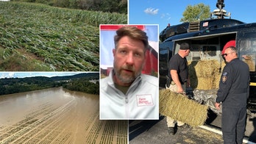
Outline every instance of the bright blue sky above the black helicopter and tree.
[[(129, 0), (129, 24), (159, 24), (159, 32), (167, 24), (181, 24), (182, 13), (188, 5), (203, 3), (210, 6), (210, 12), (216, 10), (217, 0)], [(224, 0), (224, 10), (231, 12), (231, 18), (245, 23), (256, 22), (255, 0)], [(210, 15), (209, 15), (210, 17)], [(227, 18), (227, 17), (226, 17)]]

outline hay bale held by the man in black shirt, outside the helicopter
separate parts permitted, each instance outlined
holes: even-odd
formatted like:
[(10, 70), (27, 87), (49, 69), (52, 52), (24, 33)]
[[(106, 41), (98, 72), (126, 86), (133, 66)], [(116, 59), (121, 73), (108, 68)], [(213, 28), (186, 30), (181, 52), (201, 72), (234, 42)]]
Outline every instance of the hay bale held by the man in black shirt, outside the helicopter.
[(161, 115), (188, 123), (190, 126), (202, 126), (207, 119), (208, 107), (188, 99), (187, 96), (163, 89), (160, 90), (159, 101)]

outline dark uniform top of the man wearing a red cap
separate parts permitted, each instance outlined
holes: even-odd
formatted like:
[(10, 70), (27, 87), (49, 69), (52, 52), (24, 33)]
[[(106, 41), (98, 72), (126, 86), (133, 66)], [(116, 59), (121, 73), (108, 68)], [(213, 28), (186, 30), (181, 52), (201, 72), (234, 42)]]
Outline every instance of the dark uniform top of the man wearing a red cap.
[(246, 107), (249, 97), (249, 66), (238, 58), (224, 67), (216, 102), (223, 107)]

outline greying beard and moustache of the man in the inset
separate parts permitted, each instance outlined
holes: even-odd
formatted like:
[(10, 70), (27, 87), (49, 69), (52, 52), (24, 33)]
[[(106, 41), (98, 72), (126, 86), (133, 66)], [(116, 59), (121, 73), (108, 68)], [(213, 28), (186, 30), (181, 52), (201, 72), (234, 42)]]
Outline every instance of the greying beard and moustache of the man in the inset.
[[(132, 74), (122, 73), (123, 70), (132, 71)], [(135, 79), (141, 74), (142, 68), (136, 73), (135, 68), (130, 65), (123, 65), (121, 68), (117, 68), (114, 63), (115, 76), (125, 84), (129, 84), (135, 81)]]

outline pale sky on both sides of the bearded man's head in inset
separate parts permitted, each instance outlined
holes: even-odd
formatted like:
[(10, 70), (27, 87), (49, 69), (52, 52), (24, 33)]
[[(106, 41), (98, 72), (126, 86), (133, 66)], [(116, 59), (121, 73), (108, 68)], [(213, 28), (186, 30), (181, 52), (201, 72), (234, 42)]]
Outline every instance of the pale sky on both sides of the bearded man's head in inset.
[[(145, 26), (143, 31), (149, 37), (149, 45), (158, 52), (158, 24), (149, 24)], [(116, 29), (100, 29), (100, 68), (107, 69), (113, 68), (113, 48), (114, 45), (114, 35)], [(107, 56), (107, 57), (106, 57)]]

